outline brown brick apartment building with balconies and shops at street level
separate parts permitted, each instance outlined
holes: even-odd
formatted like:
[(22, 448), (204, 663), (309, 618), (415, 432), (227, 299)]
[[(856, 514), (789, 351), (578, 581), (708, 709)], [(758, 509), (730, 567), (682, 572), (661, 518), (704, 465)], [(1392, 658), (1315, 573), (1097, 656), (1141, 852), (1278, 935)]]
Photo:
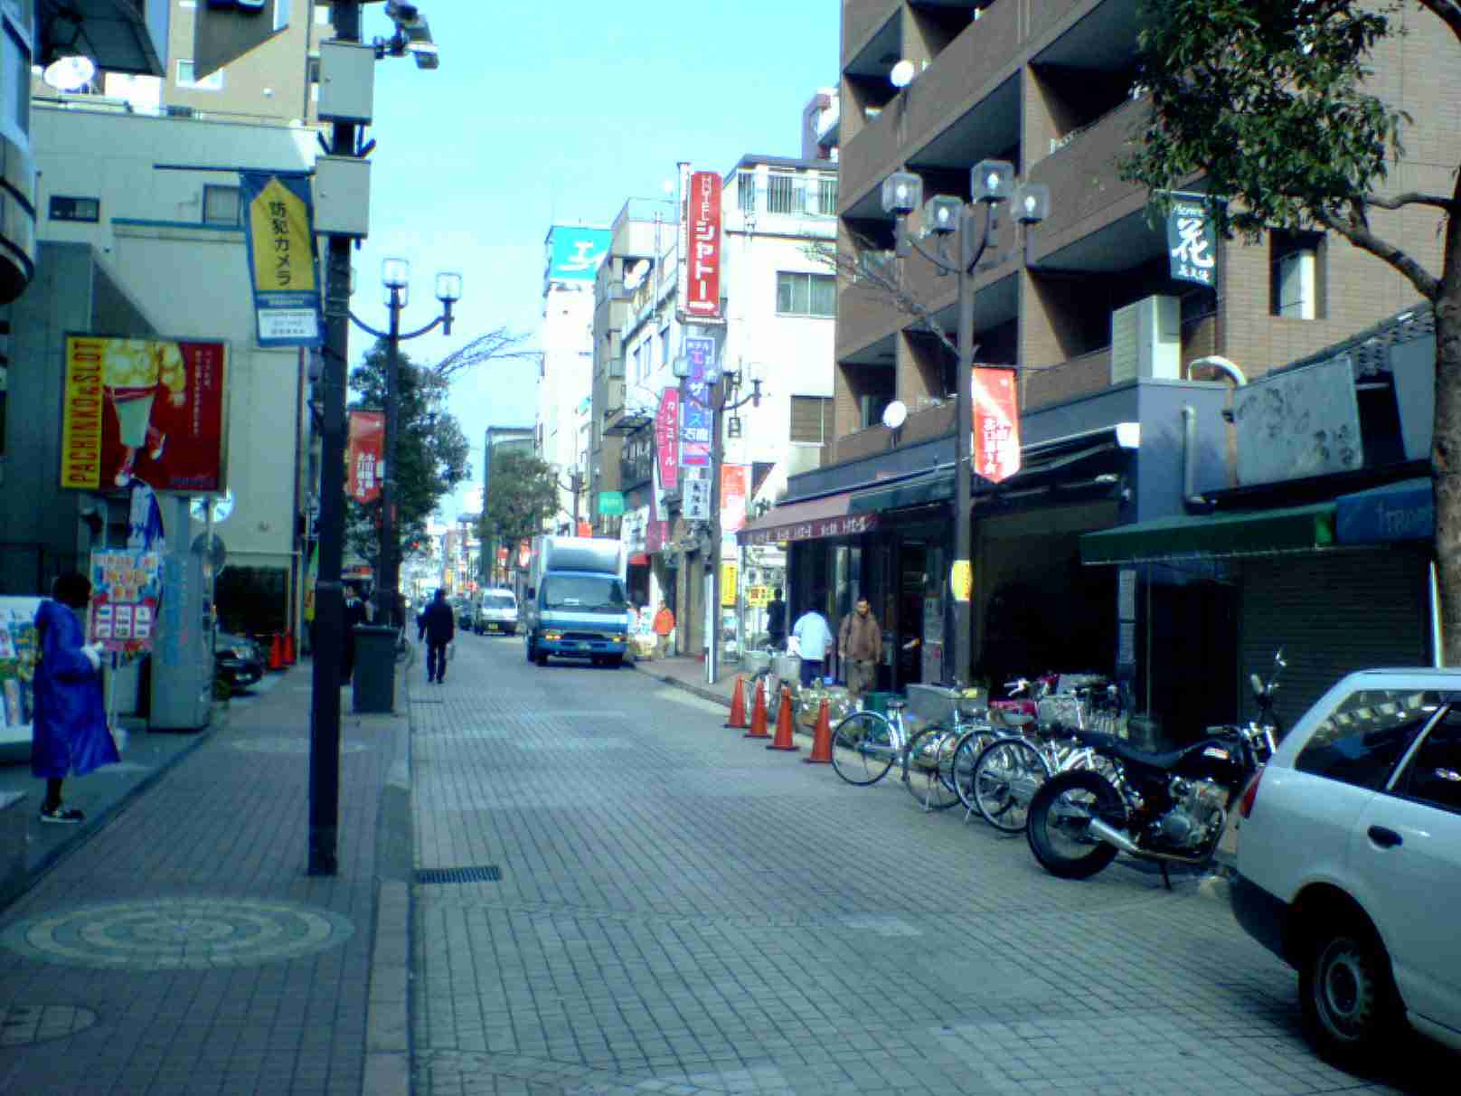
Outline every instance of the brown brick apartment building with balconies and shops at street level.
[[(1210, 592), (1180, 577), (1148, 587), (1116, 568), (1083, 568), (1081, 535), (1180, 516), (1189, 495), (1237, 487), (1232, 386), (1413, 302), (1389, 267), (1322, 234), (1220, 243), (1211, 288), (1172, 278), (1164, 228), (1116, 167), (1148, 110), (1134, 86), (1140, 9), (843, 3), (834, 463), (793, 476), (768, 517), (792, 549), (793, 612), (814, 595), (834, 615), (859, 590), (872, 598), (896, 652), (885, 685), (970, 672), (998, 684), (1049, 666), (1118, 671), (1138, 685), (1167, 674), (1160, 630), (1138, 604), (1166, 599), (1197, 620), (1226, 612), (1221, 599), (1204, 604)], [(1461, 134), (1449, 98), (1401, 75), (1454, 85), (1452, 54), (1442, 35), (1419, 34), (1376, 53), (1375, 86), (1413, 118), (1392, 175), (1405, 187), (1448, 187)], [(1005, 212), (973, 279), (977, 361), (1018, 370), (1023, 466), (999, 485), (976, 478), (963, 500), (974, 511), (973, 666), (955, 668), (945, 642), (954, 355), (877, 275), (897, 273), (950, 335), (955, 279), (916, 253), (894, 259), (880, 191), (891, 172), (912, 171), (925, 196), (969, 200), (970, 168), (983, 159), (1049, 186), (1050, 213), (1020, 228)], [(918, 231), (916, 215), (910, 222)], [(1375, 225), (1439, 266), (1433, 216), (1376, 213)], [(1360, 389), (1363, 416), (1376, 397)], [(1214, 706), (1235, 690), (1218, 691)]]

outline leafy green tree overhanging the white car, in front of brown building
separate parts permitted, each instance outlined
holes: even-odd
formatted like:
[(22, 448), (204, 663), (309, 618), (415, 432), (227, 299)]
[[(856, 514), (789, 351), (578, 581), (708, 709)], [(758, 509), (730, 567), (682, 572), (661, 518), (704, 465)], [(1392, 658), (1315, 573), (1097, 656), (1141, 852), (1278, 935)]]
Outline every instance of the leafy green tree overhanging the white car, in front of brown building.
[[(1121, 170), (1151, 189), (1160, 212), (1167, 205), (1163, 191), (1202, 177), (1208, 193), (1229, 199), (1208, 203), (1224, 238), (1237, 234), (1252, 241), (1270, 228), (1341, 235), (1388, 263), (1432, 302), (1435, 557), (1445, 661), (1458, 665), (1461, 172), (1457, 167), (1446, 172), (1443, 193), (1391, 184), (1410, 118), (1373, 94), (1369, 69), (1375, 48), (1394, 35), (1449, 35), (1461, 42), (1461, 4), (1417, 3), (1423, 25), (1407, 28), (1400, 3), (1144, 0), (1137, 79), (1150, 94), (1151, 115)], [(1398, 225), (1397, 218), (1376, 215), (1417, 209), (1438, 215), (1439, 275), (1384, 237)]]

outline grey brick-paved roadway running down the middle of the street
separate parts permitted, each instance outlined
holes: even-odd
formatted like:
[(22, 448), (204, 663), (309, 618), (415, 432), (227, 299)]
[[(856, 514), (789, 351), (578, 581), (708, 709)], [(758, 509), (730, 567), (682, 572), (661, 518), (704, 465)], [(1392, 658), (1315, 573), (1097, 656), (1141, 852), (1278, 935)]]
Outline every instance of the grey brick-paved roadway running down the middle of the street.
[(646, 672), (457, 647), (411, 684), (416, 867), (500, 878), (415, 887), (421, 1096), (1455, 1090), (1315, 1058), (1211, 884), (1064, 883)]

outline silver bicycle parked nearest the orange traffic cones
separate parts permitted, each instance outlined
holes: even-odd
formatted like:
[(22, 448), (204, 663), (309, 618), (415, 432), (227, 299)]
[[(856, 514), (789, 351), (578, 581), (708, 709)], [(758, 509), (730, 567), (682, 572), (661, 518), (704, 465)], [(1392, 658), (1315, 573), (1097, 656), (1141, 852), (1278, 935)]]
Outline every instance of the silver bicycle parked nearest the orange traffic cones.
[(947, 811), (958, 802), (954, 789), (954, 747), (960, 729), (931, 723), (909, 737), (903, 725), (906, 700), (888, 701), (888, 715), (853, 712), (833, 729), (831, 767), (850, 785), (865, 788), (900, 763), (900, 779), (925, 811)]

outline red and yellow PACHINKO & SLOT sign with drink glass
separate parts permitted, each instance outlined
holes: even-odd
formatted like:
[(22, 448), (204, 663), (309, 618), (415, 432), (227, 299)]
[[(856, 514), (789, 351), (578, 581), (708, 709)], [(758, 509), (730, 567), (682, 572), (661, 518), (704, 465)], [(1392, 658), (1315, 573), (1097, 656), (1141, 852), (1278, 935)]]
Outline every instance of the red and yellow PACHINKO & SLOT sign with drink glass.
[(60, 485), (224, 491), (228, 345), (66, 336)]

